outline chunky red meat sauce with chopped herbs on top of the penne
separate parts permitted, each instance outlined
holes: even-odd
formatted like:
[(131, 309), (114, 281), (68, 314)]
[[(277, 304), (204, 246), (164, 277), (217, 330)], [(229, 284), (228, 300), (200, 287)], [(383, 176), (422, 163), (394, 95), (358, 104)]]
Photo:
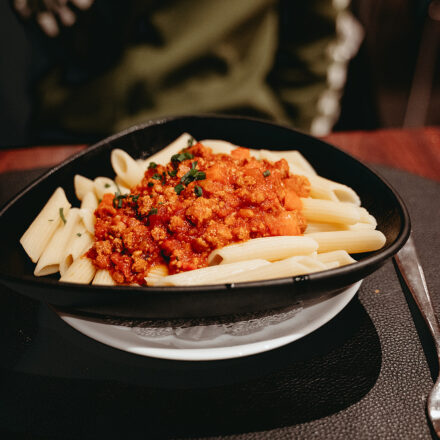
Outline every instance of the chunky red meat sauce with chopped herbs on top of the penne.
[(286, 160), (257, 160), (246, 148), (213, 154), (201, 143), (172, 159), (150, 163), (128, 196), (105, 194), (95, 211), (87, 256), (117, 283), (144, 285), (156, 265), (170, 274), (198, 269), (228, 244), (304, 232), (300, 197), (310, 183)]

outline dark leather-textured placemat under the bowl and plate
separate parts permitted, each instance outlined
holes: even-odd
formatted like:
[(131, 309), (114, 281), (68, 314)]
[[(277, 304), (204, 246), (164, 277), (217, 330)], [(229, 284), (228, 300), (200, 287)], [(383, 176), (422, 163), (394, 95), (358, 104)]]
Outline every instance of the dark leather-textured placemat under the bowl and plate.
[[(410, 209), (440, 310), (440, 185), (377, 168)], [(0, 202), (38, 174), (0, 175)], [(438, 370), (435, 353), (391, 261), (311, 335), (217, 362), (112, 349), (71, 329), (46, 305), (1, 289), (0, 429), (9, 436), (431, 438), (425, 399)]]

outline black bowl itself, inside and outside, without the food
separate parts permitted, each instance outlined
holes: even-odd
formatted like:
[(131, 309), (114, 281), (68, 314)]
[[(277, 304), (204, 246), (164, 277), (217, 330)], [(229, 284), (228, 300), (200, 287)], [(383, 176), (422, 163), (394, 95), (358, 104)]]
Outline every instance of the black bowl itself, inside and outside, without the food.
[[(251, 283), (196, 287), (84, 286), (56, 277), (33, 276), (19, 239), (52, 192), (62, 186), (76, 200), (73, 176), (113, 176), (110, 152), (145, 158), (183, 132), (196, 139), (224, 139), (250, 148), (299, 150), (324, 177), (351, 186), (378, 221), (386, 238), (383, 249), (360, 256), (355, 264), (297, 277)], [(66, 160), (34, 181), (0, 211), (3, 231), (0, 282), (23, 294), (70, 311), (145, 318), (208, 317), (315, 302), (378, 269), (405, 243), (410, 232), (406, 207), (398, 194), (367, 166), (339, 149), (290, 128), (226, 116), (183, 116), (150, 121), (111, 136)]]

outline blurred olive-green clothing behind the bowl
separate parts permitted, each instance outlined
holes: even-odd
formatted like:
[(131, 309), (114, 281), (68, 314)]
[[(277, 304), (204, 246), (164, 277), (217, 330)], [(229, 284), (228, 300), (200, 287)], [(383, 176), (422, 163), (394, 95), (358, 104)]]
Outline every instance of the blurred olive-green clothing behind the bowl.
[[(164, 115), (229, 113), (309, 130), (336, 39), (331, 0), (129, 1), (101, 31), (103, 7), (58, 43), (68, 62), (38, 84), (38, 127), (101, 135)], [(100, 67), (88, 72), (88, 60)], [(75, 63), (79, 80), (68, 74)]]

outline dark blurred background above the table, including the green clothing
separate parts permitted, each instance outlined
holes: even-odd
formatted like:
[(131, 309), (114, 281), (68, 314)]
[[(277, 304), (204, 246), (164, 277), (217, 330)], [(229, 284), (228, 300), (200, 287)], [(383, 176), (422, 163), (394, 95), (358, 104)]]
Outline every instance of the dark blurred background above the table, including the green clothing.
[(439, 0), (2, 0), (0, 148), (165, 115), (440, 124)]

